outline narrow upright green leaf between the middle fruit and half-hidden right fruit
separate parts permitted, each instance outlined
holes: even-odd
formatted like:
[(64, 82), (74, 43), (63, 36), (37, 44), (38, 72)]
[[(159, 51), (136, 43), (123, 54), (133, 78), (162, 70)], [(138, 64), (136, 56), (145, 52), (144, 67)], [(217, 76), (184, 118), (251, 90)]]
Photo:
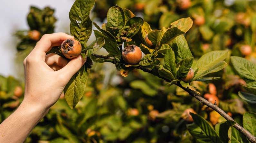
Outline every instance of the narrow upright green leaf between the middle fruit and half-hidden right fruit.
[(176, 64), (175, 64), (175, 54), (172, 48), (169, 49), (165, 53), (165, 68), (172, 72), (173, 76), (176, 77)]

